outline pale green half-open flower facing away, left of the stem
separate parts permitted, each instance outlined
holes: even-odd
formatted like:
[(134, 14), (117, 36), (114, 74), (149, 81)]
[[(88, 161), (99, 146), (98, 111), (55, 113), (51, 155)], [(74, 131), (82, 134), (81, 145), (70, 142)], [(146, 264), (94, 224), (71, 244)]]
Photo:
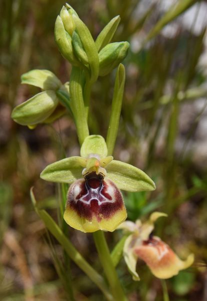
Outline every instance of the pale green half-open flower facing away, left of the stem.
[(30, 129), (38, 123), (50, 123), (62, 116), (66, 109), (59, 101), (58, 93), (68, 97), (68, 83), (62, 85), (60, 80), (49, 70), (34, 69), (22, 74), (21, 83), (42, 89), (42, 92), (17, 105), (11, 118)]

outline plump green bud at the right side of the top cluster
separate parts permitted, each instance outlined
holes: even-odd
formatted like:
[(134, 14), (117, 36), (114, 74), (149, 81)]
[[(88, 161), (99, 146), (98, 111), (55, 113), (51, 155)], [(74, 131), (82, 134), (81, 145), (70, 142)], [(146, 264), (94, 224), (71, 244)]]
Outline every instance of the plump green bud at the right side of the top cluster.
[(102, 48), (99, 56), (99, 75), (105, 76), (116, 68), (126, 57), (128, 42), (110, 43)]

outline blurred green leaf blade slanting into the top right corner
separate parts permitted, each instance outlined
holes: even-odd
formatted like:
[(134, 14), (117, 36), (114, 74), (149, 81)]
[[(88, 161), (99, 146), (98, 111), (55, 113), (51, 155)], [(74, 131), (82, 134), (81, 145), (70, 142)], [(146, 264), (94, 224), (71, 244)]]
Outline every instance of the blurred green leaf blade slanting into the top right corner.
[(155, 37), (162, 28), (185, 12), (189, 7), (195, 4), (197, 1), (195, 0), (181, 0), (177, 1), (176, 4), (173, 4), (169, 10), (164, 14), (164, 16), (155, 24), (152, 30), (148, 33), (146, 37), (146, 41)]

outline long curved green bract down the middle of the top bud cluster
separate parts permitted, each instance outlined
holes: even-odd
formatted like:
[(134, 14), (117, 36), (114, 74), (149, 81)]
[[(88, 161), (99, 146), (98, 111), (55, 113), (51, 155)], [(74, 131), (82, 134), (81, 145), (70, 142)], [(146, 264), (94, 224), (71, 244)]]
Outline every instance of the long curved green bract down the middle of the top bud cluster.
[(99, 59), (97, 49), (86, 25), (75, 15), (72, 15), (72, 18), (76, 26), (76, 31), (80, 37), (83, 48), (87, 55), (90, 68), (90, 82), (93, 83), (96, 81), (99, 73)]

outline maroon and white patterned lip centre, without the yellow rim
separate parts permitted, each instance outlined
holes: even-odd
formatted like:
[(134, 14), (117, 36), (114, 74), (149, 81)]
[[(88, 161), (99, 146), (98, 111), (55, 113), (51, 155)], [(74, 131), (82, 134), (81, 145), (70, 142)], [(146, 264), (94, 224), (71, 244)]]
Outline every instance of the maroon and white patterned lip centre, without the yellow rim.
[(84, 179), (79, 179), (70, 186), (67, 194), (68, 205), (79, 217), (88, 221), (96, 217), (97, 222), (109, 219), (124, 207), (122, 195), (115, 184), (95, 172), (87, 174)]

